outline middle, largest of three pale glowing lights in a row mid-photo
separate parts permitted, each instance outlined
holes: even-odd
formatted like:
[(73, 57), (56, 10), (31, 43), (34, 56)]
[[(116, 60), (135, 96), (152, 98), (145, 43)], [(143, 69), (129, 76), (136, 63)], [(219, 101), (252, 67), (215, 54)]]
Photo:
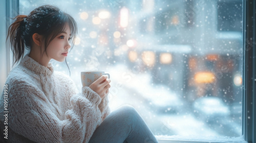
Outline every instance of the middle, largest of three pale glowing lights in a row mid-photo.
[(144, 51), (142, 53), (142, 61), (148, 67), (153, 67), (156, 63), (156, 55), (153, 51)]

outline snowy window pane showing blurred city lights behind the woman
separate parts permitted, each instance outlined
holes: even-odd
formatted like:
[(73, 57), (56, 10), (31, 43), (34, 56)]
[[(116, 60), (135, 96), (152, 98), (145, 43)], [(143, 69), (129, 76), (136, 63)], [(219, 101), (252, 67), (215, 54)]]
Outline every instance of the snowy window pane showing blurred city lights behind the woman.
[(159, 138), (242, 139), (242, 0), (19, 2), (75, 18), (71, 77), (81, 89), (81, 71), (110, 73), (112, 110), (133, 105)]

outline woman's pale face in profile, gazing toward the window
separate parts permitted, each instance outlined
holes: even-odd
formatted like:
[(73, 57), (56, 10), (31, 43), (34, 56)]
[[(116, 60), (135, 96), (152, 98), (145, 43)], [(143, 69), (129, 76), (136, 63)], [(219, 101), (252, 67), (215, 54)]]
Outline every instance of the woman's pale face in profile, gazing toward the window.
[(66, 26), (65, 31), (57, 35), (47, 47), (48, 58), (58, 62), (63, 62), (68, 56), (70, 45), (71, 31), (70, 27)]

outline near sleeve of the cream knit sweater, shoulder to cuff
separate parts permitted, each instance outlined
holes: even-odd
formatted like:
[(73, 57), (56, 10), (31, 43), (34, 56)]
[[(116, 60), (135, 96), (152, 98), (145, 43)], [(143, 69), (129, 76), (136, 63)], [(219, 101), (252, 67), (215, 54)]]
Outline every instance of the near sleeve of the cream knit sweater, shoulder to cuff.
[(9, 127), (35, 142), (88, 142), (102, 116), (101, 98), (90, 88), (73, 95), (66, 120), (59, 120), (48, 107), (43, 92), (26, 81), (9, 88)]

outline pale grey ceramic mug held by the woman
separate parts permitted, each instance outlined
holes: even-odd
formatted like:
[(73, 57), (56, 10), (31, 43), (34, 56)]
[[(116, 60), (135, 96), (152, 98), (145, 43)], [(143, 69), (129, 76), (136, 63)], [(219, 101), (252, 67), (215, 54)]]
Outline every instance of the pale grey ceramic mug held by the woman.
[(83, 72), (81, 72), (82, 86), (89, 87), (89, 85), (91, 85), (101, 75), (108, 75), (108, 78), (110, 78), (110, 74), (105, 73), (104, 71), (83, 71)]

